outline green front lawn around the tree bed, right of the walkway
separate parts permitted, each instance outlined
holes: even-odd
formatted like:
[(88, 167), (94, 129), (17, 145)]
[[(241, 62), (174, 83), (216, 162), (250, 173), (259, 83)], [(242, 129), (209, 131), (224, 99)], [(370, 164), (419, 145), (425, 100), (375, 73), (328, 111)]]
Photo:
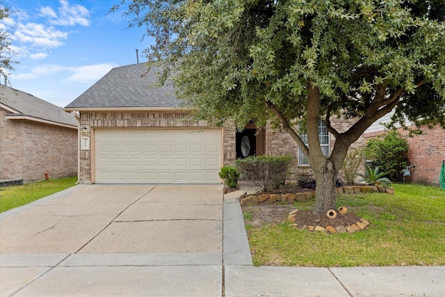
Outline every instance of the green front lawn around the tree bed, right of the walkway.
[[(337, 198), (337, 206), (369, 220), (362, 232), (324, 234), (287, 223), (248, 228), (254, 265), (445, 265), (445, 191), (412, 184), (394, 188), (394, 195)], [(296, 207), (312, 209), (314, 201), (296, 202)]]

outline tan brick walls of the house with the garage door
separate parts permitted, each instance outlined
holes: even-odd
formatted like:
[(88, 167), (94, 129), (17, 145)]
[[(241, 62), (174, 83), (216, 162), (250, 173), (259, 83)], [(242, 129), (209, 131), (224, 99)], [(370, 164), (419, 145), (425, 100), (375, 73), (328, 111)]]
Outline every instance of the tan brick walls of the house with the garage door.
[[(337, 121), (332, 125), (339, 131), (345, 131), (351, 121)], [(206, 127), (206, 122), (196, 123), (190, 119), (190, 114), (181, 111), (164, 111), (164, 112), (81, 112), (80, 129), (87, 128), (86, 133), (81, 133), (81, 137), (94, 137), (94, 130), (98, 128), (126, 128), (126, 127)], [(286, 132), (273, 131), (271, 125), (268, 124), (266, 130), (266, 154), (270, 156), (289, 155), (293, 157), (293, 165), (291, 166), (291, 176), (295, 177), (296, 172), (308, 172), (308, 166), (297, 166), (298, 164), (298, 146), (291, 136)], [(236, 129), (234, 125), (228, 123), (223, 129), (223, 164), (225, 166), (233, 165), (236, 159)], [(334, 137), (330, 138), (330, 146), (334, 145)], [(92, 143), (92, 141), (90, 141)], [(351, 147), (359, 147), (364, 144), (364, 138)], [(80, 145), (79, 145), (80, 146)], [(80, 149), (80, 147), (79, 147)], [(90, 150), (80, 151), (80, 170), (79, 181), (81, 183), (90, 183), (92, 180), (92, 154)]]

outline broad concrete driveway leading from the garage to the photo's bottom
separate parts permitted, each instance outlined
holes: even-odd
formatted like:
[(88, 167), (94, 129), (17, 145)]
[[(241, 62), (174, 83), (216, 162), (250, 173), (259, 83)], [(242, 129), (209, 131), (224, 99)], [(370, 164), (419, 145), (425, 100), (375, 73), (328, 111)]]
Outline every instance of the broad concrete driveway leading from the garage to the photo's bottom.
[(0, 296), (221, 296), (221, 185), (79, 185), (1, 215)]

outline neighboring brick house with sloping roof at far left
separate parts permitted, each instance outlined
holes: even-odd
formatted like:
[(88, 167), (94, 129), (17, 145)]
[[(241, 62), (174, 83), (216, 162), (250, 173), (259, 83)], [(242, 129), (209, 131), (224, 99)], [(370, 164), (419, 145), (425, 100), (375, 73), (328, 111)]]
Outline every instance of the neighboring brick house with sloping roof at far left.
[(0, 181), (77, 174), (78, 122), (54, 104), (0, 86)]

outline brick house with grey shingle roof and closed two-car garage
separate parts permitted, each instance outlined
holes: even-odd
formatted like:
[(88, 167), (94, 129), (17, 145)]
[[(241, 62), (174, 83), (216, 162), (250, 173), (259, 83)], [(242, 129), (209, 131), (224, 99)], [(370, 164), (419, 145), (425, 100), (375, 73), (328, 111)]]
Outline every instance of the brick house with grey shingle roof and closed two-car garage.
[[(218, 184), (222, 166), (261, 154), (293, 156), (293, 172), (309, 168), (298, 159), (295, 141), (270, 125), (259, 130), (252, 123), (236, 132), (193, 122), (172, 86), (150, 87), (158, 71), (147, 72), (145, 64), (114, 68), (65, 107), (80, 118), (81, 183)], [(339, 131), (348, 125), (333, 124)], [(323, 150), (333, 144), (332, 136), (323, 138)]]

